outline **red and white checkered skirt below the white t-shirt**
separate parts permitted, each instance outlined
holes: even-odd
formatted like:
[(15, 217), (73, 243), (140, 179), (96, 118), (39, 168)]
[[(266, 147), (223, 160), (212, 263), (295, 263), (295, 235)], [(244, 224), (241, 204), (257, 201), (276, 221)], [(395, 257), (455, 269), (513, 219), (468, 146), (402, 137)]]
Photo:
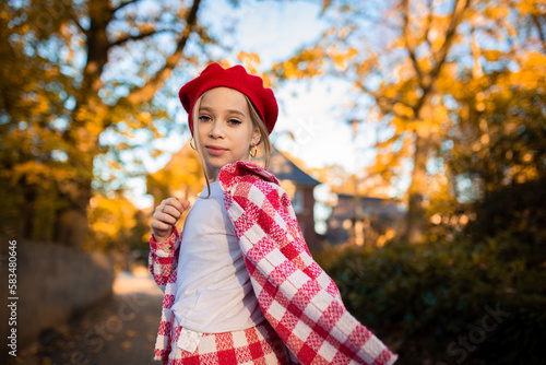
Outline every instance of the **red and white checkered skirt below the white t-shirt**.
[(174, 327), (173, 350), (163, 365), (290, 364), (288, 350), (266, 320), (245, 330), (203, 333), (193, 353), (177, 346), (181, 330)]

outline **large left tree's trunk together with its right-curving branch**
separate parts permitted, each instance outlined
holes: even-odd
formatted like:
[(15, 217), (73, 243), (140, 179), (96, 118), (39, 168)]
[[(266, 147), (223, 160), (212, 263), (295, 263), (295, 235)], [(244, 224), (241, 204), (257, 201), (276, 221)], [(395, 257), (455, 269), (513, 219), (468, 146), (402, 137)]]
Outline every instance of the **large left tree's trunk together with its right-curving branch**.
[[(126, 2), (129, 3), (132, 1)], [(197, 24), (200, 0), (194, 0), (186, 19), (186, 27), (178, 42), (176, 51), (167, 57), (166, 64), (144, 86), (131, 90), (129, 95), (118, 101), (123, 105), (129, 102), (139, 105), (150, 102), (155, 92), (165, 83), (173, 69), (183, 57), (186, 44)], [(100, 152), (99, 136), (109, 126), (112, 107), (103, 103), (98, 93), (103, 87), (100, 79), (108, 61), (108, 50), (112, 44), (108, 40), (107, 27), (116, 10), (108, 0), (87, 3), (90, 27), (85, 32), (87, 62), (83, 70), (82, 87), (76, 96), (76, 106), (70, 129), (66, 132), (67, 143), (78, 146), (78, 152), (69, 155), (69, 161), (78, 172), (78, 178), (67, 181), (62, 190), (69, 207), (57, 215), (55, 239), (66, 246), (81, 248), (87, 234), (87, 205), (92, 197), (93, 162)], [(122, 8), (119, 5), (118, 9)], [(131, 39), (129, 37), (128, 39)], [(134, 39), (139, 39), (138, 36)]]

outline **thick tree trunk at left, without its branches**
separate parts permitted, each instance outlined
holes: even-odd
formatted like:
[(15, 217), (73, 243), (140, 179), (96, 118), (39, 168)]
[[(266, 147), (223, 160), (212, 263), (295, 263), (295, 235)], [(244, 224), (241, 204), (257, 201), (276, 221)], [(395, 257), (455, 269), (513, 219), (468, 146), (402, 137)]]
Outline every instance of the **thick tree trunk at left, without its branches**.
[(110, 43), (107, 26), (111, 20), (109, 1), (99, 0), (87, 4), (90, 28), (86, 32), (87, 61), (83, 70), (82, 87), (76, 96), (70, 129), (64, 138), (78, 145), (75, 153), (69, 153), (69, 161), (78, 177), (64, 181), (60, 189), (61, 199), (68, 207), (56, 217), (54, 238), (63, 246), (81, 249), (87, 234), (87, 205), (92, 196), (93, 162), (99, 149), (98, 137), (104, 130), (107, 107), (98, 96), (103, 86), (100, 75), (107, 62)]

